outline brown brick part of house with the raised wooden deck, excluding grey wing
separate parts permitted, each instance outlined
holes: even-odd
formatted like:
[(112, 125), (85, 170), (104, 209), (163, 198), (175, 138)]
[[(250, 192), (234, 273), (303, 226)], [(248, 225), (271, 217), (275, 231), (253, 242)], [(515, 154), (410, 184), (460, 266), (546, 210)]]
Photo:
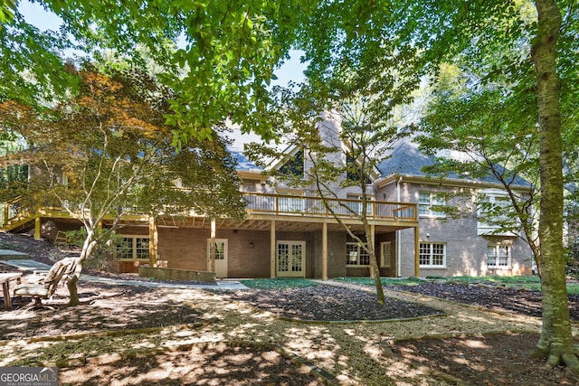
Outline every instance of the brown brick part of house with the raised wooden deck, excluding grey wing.
[[(118, 230), (122, 239), (113, 265), (125, 272), (135, 272), (142, 264), (203, 271), (214, 266), (217, 278), (368, 276), (368, 256), (348, 240), (343, 226), (328, 214), (321, 200), (306, 189), (283, 186), (263, 174), (242, 155), (242, 137), (237, 138), (230, 151), (238, 160), (238, 176), (247, 203), (244, 219), (209, 221), (195, 213), (155, 218), (125, 214)], [(361, 207), (361, 201), (353, 197), (345, 191), (337, 201)], [(15, 211), (16, 207), (15, 201), (5, 202), (5, 231), (33, 228), (35, 237), (40, 238), (49, 221), (59, 231), (79, 226), (58, 208), (28, 212), (22, 208)], [(410, 230), (413, 240), (418, 241), (416, 203), (375, 200), (368, 211), (375, 248), (391, 245), (395, 232), (402, 229)], [(351, 212), (338, 215), (352, 231), (363, 232), (362, 222)], [(106, 227), (107, 221), (102, 225)], [(210, 259), (212, 240), (214, 265)], [(390, 249), (384, 250), (382, 276), (394, 275), (392, 256)], [(418, 256), (412, 259), (418, 261)]]

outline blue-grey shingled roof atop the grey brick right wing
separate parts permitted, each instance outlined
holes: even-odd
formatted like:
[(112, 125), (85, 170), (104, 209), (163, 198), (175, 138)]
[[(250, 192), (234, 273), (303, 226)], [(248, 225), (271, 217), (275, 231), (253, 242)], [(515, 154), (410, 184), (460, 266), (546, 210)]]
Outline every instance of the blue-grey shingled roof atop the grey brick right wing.
[[(490, 174), (490, 172), (489, 175), (477, 179), (469, 178), (467, 176), (459, 175), (456, 173), (450, 173), (443, 176), (442, 175), (437, 176), (432, 174), (427, 175), (422, 171), (422, 168), (424, 166), (434, 165), (436, 162), (436, 157), (435, 155), (425, 155), (424, 153), (422, 153), (422, 151), (420, 151), (420, 149), (418, 148), (418, 144), (413, 142), (412, 138), (403, 138), (402, 140), (400, 140), (400, 142), (394, 146), (394, 149), (390, 155), (391, 156), (389, 158), (385, 159), (380, 165), (378, 165), (378, 168), (380, 169), (383, 178), (393, 174), (403, 174), (425, 178), (441, 177), (444, 179), (461, 180), (463, 182), (470, 181), (473, 183), (478, 182), (488, 184), (499, 184), (497, 178), (494, 175)], [(496, 167), (498, 168), (498, 170), (501, 171), (506, 170), (500, 165), (496, 165)], [(532, 186), (532, 184), (530, 184), (527, 180), (519, 176), (515, 178), (513, 184), (524, 187)]]

